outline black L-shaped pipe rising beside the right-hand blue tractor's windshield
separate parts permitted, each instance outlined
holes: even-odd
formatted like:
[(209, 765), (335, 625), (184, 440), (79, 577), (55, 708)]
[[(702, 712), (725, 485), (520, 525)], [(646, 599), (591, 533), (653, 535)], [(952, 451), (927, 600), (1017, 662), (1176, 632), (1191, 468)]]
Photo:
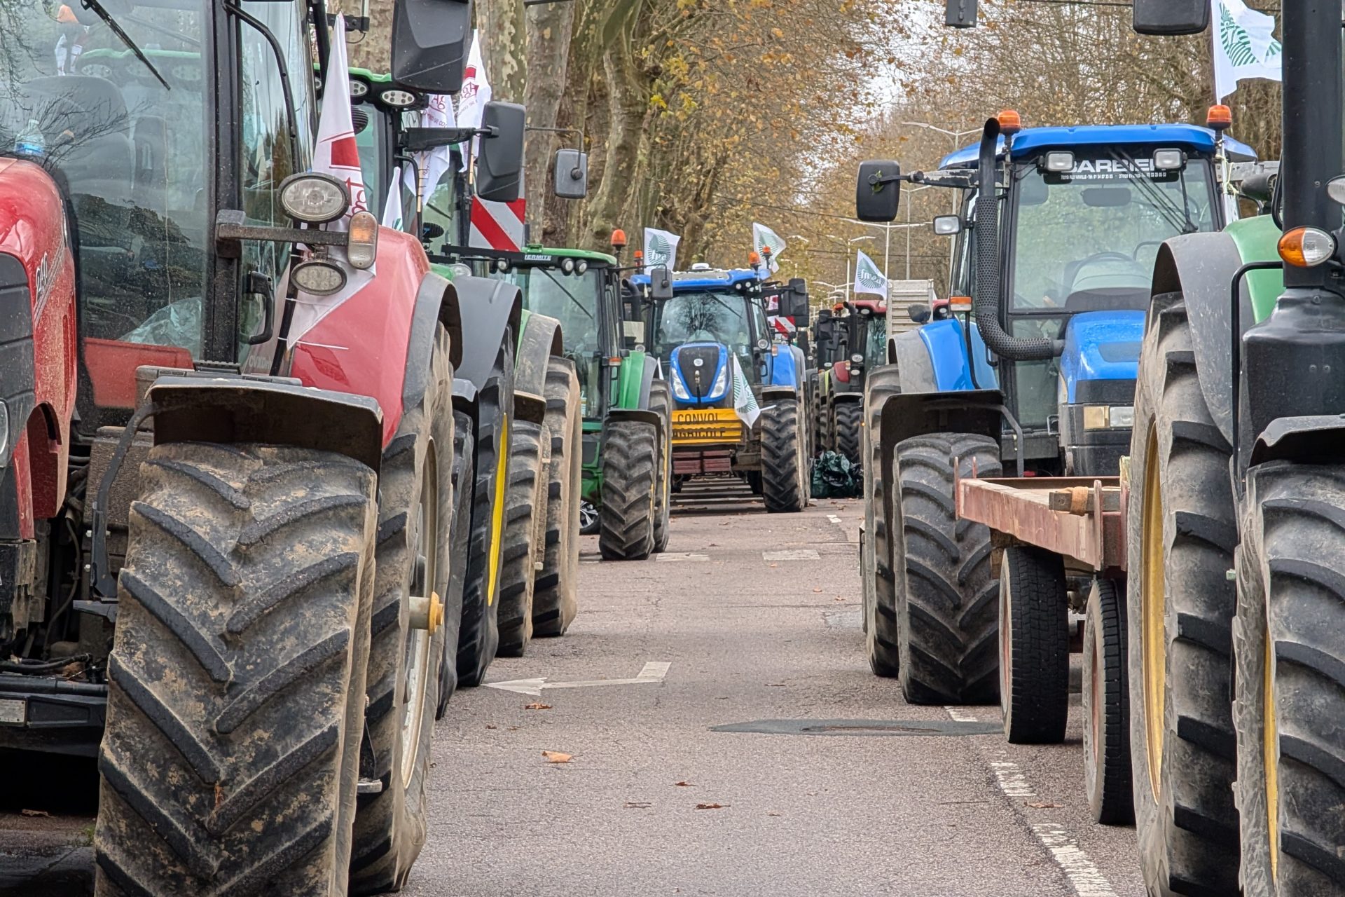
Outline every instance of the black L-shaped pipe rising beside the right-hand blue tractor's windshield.
[(999, 121), (990, 118), (981, 134), (981, 161), (976, 169), (976, 286), (971, 311), (990, 351), (1015, 362), (1054, 358), (1064, 351), (1064, 340), (1021, 339), (999, 325), (999, 200), (997, 199), (995, 155)]

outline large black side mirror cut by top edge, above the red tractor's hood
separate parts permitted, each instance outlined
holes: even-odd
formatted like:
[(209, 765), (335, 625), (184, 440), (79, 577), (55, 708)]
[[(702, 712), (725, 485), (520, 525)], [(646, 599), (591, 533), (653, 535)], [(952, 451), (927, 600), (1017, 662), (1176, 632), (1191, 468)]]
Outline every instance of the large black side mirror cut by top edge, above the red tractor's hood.
[(457, 93), (471, 40), (471, 0), (397, 0), (393, 81), (425, 93)]

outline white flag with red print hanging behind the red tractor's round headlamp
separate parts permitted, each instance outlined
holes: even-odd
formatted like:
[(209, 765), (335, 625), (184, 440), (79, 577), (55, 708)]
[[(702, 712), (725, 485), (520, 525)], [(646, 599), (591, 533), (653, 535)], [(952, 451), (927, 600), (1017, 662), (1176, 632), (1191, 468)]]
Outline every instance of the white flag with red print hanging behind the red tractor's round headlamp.
[[(350, 192), (350, 208), (343, 218), (323, 225), (325, 230), (346, 231), (350, 218), (358, 211), (369, 211), (369, 194), (359, 168), (359, 145), (350, 114), (350, 67), (346, 62), (346, 17), (338, 15), (332, 28), (331, 59), (327, 82), (323, 86), (323, 112), (317, 121), (317, 147), (313, 149), (313, 171), (344, 182)], [(360, 270), (346, 261), (343, 246), (331, 246), (330, 260), (346, 272), (346, 286), (331, 296), (309, 296), (300, 292), (295, 299), (295, 315), (289, 323), (289, 343), (297, 343), (317, 321), (358, 293), (374, 280), (374, 268)]]

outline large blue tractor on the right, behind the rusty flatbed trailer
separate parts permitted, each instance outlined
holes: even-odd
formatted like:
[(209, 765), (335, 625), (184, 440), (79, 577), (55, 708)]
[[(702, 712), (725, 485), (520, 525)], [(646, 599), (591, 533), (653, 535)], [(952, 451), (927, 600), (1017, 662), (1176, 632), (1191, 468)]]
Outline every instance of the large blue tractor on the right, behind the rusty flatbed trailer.
[[(1026, 555), (993, 550), (985, 526), (959, 520), (954, 483), (1006, 467), (1118, 475), (1154, 260), (1170, 237), (1223, 227), (1216, 163), (1225, 153), (1252, 157), (1192, 125), (1024, 130), (1017, 113), (1002, 113), (939, 172), (861, 165), (863, 221), (896, 217), (902, 180), (962, 194), (960, 211), (935, 221), (936, 233), (955, 237), (951, 303), (935, 309), (937, 320), (917, 307), (923, 327), (889, 340), (889, 363), (865, 389), (869, 662), (900, 678), (908, 701), (991, 703), (1002, 694), (1021, 740), (1063, 736), (1068, 679), (1028, 655), (1013, 662), (1030, 654), (1013, 639), (1028, 615), (1015, 602), (1049, 593), (1060, 612), (1038, 619), (1050, 620), (1049, 639), (1067, 640), (1068, 656), (1061, 596), (1079, 611), (1088, 596), (1071, 592), (1059, 557), (1032, 555), (1037, 566), (1015, 574), (1050, 588), (1007, 588), (1009, 559)], [(1020, 697), (1032, 707), (1017, 706)], [(1033, 707), (1045, 706), (1034, 724)]]

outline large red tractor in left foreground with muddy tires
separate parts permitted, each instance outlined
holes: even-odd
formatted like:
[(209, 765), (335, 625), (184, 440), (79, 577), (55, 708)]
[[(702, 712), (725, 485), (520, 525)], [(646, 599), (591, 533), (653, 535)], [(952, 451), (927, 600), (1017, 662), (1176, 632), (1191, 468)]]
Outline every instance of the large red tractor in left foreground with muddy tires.
[[(323, 0), (0, 16), (0, 746), (98, 757), (101, 896), (397, 889), (457, 498), (484, 477), (499, 516), (516, 290), (363, 211), (324, 229), (362, 198), (307, 173)], [(397, 79), (456, 91), (469, 34), (398, 0)]]

